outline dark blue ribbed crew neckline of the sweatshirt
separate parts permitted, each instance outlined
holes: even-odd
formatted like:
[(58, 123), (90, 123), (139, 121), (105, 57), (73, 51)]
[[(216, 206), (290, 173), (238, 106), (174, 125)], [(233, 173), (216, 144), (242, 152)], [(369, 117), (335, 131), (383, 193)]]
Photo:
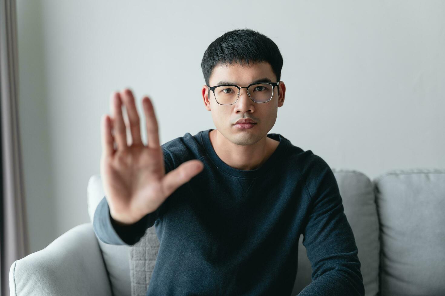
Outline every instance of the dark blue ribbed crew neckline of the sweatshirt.
[(204, 149), (206, 150), (207, 156), (214, 163), (214, 165), (218, 167), (218, 169), (222, 170), (223, 172), (231, 176), (238, 178), (246, 178), (246, 179), (258, 178), (264, 172), (270, 170), (271, 167), (276, 165), (278, 160), (282, 157), (289, 142), (289, 140), (287, 140), (287, 138), (284, 138), (281, 134), (275, 134), (275, 133), (267, 134), (267, 137), (279, 141), (279, 144), (276, 147), (275, 151), (272, 153), (272, 155), (267, 159), (266, 162), (263, 163), (262, 166), (256, 168), (255, 170), (239, 170), (227, 165), (225, 162), (223, 162), (221, 158), (219, 158), (218, 154), (216, 154), (212, 146), (212, 143), (210, 142), (209, 134), (210, 131), (212, 130), (214, 129), (201, 131), (201, 141), (204, 146)]

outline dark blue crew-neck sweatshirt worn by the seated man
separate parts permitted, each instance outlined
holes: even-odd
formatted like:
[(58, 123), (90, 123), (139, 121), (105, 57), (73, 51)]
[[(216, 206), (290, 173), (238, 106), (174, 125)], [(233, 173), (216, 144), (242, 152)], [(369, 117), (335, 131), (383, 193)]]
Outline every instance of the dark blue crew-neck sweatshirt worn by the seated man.
[(134, 245), (154, 225), (160, 246), (147, 295), (291, 295), (298, 242), (312, 265), (299, 295), (364, 295), (352, 229), (328, 164), (281, 134), (255, 170), (228, 166), (209, 130), (162, 145), (166, 173), (198, 159), (204, 169), (153, 213), (119, 227), (105, 197), (94, 214), (97, 237)]

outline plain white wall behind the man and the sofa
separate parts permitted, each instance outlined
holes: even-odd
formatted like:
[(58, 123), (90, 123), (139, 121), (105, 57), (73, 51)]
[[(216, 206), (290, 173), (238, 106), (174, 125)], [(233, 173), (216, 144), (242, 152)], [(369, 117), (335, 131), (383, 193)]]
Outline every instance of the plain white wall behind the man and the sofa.
[(112, 91), (133, 89), (140, 114), (151, 96), (161, 143), (214, 128), (200, 63), (235, 28), (258, 30), (283, 55), (287, 91), (270, 133), (369, 178), (445, 167), (444, 1), (223, 4), (18, 1), (31, 252), (89, 221), (86, 186), (99, 174)]

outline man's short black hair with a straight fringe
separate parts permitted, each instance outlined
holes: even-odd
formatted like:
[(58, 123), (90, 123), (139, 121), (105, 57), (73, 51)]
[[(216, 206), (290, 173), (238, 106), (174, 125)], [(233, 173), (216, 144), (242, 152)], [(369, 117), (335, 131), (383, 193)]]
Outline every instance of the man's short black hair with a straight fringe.
[(226, 32), (207, 47), (201, 61), (206, 85), (210, 86), (210, 75), (216, 65), (233, 62), (241, 65), (243, 62), (247, 65), (267, 62), (271, 65), (277, 81), (281, 78), (283, 57), (278, 46), (267, 36), (248, 28)]

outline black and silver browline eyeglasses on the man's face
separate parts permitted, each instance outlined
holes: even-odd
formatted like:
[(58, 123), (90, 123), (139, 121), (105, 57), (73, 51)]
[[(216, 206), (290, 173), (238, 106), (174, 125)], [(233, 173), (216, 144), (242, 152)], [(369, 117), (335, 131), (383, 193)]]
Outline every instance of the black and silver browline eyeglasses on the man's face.
[(274, 95), (274, 88), (279, 82), (252, 83), (247, 87), (239, 87), (235, 84), (224, 84), (209, 87), (213, 91), (216, 103), (220, 105), (233, 105), (238, 101), (242, 88), (247, 88), (247, 95), (255, 103), (267, 103)]

